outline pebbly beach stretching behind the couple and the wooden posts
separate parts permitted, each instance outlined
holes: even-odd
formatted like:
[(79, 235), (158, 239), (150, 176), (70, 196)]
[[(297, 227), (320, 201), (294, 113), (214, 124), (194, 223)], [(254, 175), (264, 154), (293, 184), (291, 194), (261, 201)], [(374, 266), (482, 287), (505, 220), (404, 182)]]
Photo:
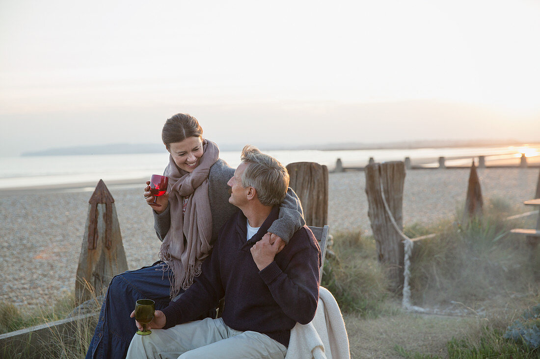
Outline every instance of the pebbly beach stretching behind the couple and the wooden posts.
[[(504, 199), (516, 213), (531, 210), (522, 202), (535, 194), (537, 168), (485, 168), (478, 175), (486, 203), (490, 198)], [(404, 225), (454, 218), (464, 203), (468, 177), (469, 169), (408, 171)], [(107, 185), (114, 197), (130, 270), (153, 263), (160, 242), (153, 231), (151, 208), (142, 196), (144, 181)], [(0, 191), (0, 301), (10, 301), (26, 311), (49, 306), (53, 299), (74, 290), (92, 191), (93, 187)], [(370, 233), (363, 172), (329, 175), (328, 210), (330, 232)]]

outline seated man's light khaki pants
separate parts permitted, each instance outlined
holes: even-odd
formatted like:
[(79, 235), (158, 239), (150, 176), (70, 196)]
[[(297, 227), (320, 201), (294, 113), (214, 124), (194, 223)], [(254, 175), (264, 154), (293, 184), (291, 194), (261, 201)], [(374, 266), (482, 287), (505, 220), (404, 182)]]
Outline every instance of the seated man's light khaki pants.
[(127, 350), (128, 359), (284, 359), (285, 354), (287, 348), (266, 334), (239, 332), (221, 318), (152, 329), (150, 335), (135, 334)]

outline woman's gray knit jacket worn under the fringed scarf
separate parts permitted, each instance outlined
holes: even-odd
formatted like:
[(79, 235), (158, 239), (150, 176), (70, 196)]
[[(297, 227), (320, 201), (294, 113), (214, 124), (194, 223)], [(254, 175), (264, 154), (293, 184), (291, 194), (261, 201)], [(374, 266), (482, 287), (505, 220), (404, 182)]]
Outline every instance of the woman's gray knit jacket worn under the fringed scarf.
[[(210, 208), (212, 212), (212, 238), (210, 244), (214, 244), (218, 239), (218, 233), (227, 220), (238, 211), (238, 208), (229, 203), (228, 180), (234, 176), (234, 168), (229, 167), (227, 162), (219, 159), (210, 168), (208, 175), (208, 198), (210, 198)], [(159, 215), (154, 212), (154, 229), (159, 240), (163, 241), (169, 228), (171, 227), (170, 206)], [(287, 195), (281, 202), (279, 218), (268, 229), (268, 232), (281, 237), (285, 243), (293, 237), (306, 222), (303, 218), (302, 205), (300, 199), (289, 187)]]

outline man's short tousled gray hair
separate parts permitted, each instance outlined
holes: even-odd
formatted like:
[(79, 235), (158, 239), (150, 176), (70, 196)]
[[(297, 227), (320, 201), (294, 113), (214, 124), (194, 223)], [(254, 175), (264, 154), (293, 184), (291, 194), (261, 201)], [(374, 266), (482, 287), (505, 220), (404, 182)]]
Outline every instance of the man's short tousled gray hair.
[(242, 149), (240, 159), (248, 164), (242, 174), (242, 187), (255, 188), (261, 204), (281, 204), (289, 187), (289, 172), (284, 165), (249, 144)]

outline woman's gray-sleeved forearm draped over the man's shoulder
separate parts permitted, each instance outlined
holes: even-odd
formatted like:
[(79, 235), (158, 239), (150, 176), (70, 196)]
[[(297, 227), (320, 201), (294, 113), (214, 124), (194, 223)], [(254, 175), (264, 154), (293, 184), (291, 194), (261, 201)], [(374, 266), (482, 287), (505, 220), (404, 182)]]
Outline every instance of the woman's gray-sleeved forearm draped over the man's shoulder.
[(293, 237), (294, 232), (298, 231), (305, 224), (306, 221), (303, 218), (300, 199), (296, 196), (293, 189), (289, 187), (279, 207), (279, 218), (272, 223), (268, 232), (274, 233), (287, 244)]

